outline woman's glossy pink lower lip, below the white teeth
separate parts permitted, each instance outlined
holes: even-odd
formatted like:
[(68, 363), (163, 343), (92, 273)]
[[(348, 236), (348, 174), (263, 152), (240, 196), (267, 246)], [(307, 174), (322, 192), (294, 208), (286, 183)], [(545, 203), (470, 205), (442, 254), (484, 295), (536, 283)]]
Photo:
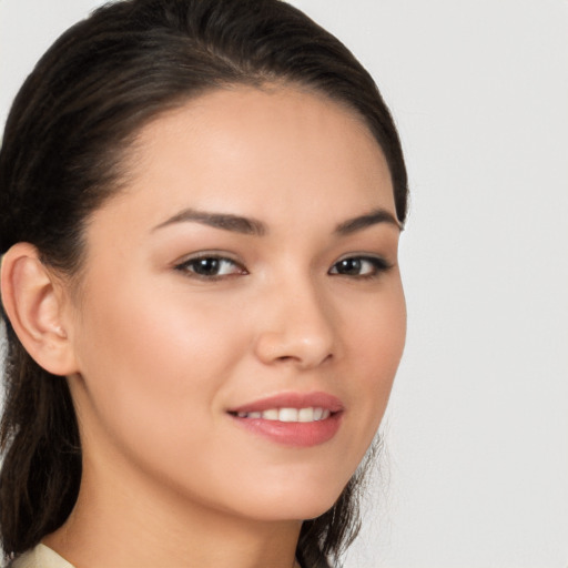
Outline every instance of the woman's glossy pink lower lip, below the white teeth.
[(280, 422), (263, 418), (240, 418), (232, 416), (242, 427), (253, 434), (296, 448), (318, 446), (331, 440), (341, 426), (341, 412), (332, 414), (325, 420), (316, 422)]

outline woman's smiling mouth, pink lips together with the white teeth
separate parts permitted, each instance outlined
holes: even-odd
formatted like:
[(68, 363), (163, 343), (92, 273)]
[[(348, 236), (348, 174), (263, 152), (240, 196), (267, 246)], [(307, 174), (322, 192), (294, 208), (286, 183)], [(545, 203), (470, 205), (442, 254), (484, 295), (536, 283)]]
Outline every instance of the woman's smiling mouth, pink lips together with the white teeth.
[(326, 393), (287, 393), (227, 410), (246, 432), (290, 447), (331, 440), (339, 429), (343, 413), (342, 402)]

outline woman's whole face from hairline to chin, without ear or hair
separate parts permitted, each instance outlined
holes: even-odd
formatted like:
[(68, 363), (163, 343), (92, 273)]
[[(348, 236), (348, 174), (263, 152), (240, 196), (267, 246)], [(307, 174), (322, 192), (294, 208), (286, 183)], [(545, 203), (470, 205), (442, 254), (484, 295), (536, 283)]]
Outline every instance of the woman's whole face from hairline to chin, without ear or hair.
[(128, 164), (68, 313), (85, 471), (248, 518), (322, 514), (405, 338), (377, 143), (321, 95), (235, 88), (155, 120)]

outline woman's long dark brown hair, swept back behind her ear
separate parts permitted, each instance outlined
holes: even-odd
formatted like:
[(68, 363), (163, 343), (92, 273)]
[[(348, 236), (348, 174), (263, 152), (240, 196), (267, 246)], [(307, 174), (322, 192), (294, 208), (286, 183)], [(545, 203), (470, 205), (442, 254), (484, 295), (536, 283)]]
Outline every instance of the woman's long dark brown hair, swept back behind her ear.
[[(292, 84), (358, 114), (381, 146), (404, 222), (400, 142), (375, 82), (353, 54), (280, 0), (122, 0), (61, 36), (18, 93), (0, 151), (0, 254), (33, 244), (73, 276), (89, 215), (119, 192), (129, 148), (150, 121), (230, 85)], [(41, 368), (6, 324), (0, 532), (14, 557), (74, 506), (81, 444), (67, 382)], [(358, 526), (354, 476), (332, 509), (303, 523), (297, 558), (329, 567)]]

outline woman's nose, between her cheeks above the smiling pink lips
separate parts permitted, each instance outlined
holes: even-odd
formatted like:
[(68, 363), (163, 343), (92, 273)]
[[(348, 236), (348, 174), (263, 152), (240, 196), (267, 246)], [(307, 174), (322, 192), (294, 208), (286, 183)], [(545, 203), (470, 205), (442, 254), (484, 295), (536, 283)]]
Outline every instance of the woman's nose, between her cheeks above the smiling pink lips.
[[(336, 356), (333, 311), (314, 286), (286, 285), (271, 295), (255, 342), (264, 364), (315, 368)], [(266, 305), (265, 305), (266, 306)]]

